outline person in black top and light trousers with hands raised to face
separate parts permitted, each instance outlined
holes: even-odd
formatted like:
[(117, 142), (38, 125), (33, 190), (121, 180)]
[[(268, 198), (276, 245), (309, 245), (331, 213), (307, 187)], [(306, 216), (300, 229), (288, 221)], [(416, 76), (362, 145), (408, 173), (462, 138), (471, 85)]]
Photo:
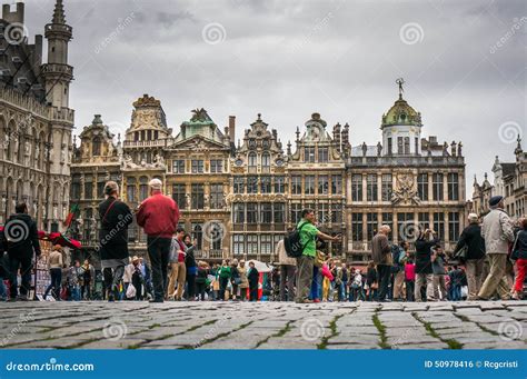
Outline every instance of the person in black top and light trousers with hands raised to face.
[(431, 267), (431, 249), (439, 243), (437, 233), (431, 229), (419, 232), (416, 245), (416, 301), (422, 301), (421, 289), (426, 288), (427, 301), (434, 301), (434, 270)]

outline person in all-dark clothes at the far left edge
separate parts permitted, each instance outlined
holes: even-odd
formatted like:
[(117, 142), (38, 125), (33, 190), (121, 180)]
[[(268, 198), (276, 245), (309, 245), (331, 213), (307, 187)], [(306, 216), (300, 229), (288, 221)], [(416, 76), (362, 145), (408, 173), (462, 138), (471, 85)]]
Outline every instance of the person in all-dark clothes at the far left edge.
[[(40, 256), (39, 233), (37, 223), (28, 215), (28, 206), (23, 202), (14, 207), (14, 215), (8, 219), (3, 229), (7, 241), (9, 261), (10, 300), (29, 300), (31, 287), (32, 259)], [(20, 269), (20, 296), (18, 296), (17, 273)]]

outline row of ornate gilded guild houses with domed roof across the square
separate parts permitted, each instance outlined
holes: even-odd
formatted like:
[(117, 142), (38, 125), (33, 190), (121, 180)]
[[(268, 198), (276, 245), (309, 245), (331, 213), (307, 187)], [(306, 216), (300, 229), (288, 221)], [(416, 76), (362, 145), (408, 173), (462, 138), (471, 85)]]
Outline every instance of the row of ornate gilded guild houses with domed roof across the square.
[[(71, 164), (74, 225), (89, 253), (97, 246), (97, 205), (109, 179), (121, 184), (131, 208), (148, 197), (152, 178), (181, 210), (180, 223), (198, 241), (198, 258), (276, 260), (275, 246), (304, 208), (319, 228), (342, 235), (334, 256), (354, 265), (370, 259), (370, 240), (382, 223), (391, 240), (434, 228), (451, 250), (465, 225), (465, 160), (460, 142), (421, 136), (421, 114), (399, 97), (381, 118), (381, 141), (350, 143), (350, 126), (329, 128), (319, 113), (282, 143), (258, 114), (235, 146), (236, 119), (221, 130), (205, 109), (192, 111), (176, 137), (161, 102), (133, 102), (123, 141), (100, 116), (80, 134)], [(131, 253), (146, 253), (146, 236), (132, 226)]]

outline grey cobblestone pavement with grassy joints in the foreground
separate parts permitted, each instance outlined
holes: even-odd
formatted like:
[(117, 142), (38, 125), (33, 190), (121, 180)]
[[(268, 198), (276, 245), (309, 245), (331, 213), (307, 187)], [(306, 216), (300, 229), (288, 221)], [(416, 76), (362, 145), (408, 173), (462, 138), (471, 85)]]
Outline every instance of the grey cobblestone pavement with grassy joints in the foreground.
[(527, 301), (16, 302), (12, 349), (526, 349)]

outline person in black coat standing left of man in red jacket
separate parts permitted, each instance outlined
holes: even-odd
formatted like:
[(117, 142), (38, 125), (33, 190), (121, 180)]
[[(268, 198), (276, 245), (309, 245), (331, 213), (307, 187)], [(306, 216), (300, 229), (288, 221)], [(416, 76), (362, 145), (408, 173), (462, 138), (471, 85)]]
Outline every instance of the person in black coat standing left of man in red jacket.
[(133, 221), (130, 208), (119, 200), (119, 186), (109, 181), (105, 186), (107, 199), (99, 205), (101, 220), (100, 255), (108, 301), (119, 296), (119, 283), (129, 265), (128, 226)]

